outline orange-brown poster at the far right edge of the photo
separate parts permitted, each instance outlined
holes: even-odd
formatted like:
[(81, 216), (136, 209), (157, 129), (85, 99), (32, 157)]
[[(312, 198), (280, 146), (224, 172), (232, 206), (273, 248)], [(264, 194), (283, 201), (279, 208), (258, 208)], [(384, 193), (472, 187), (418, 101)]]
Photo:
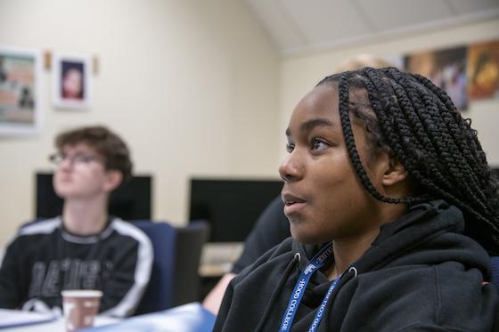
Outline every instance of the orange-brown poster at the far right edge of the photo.
[(499, 98), (499, 40), (470, 45), (468, 80), (471, 100)]

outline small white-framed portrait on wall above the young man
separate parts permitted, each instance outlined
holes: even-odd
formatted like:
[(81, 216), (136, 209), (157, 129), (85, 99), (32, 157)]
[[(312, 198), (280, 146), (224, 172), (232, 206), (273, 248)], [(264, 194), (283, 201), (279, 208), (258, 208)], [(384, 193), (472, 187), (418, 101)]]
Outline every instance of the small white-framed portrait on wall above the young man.
[(61, 109), (88, 109), (92, 90), (89, 55), (54, 53), (53, 105)]

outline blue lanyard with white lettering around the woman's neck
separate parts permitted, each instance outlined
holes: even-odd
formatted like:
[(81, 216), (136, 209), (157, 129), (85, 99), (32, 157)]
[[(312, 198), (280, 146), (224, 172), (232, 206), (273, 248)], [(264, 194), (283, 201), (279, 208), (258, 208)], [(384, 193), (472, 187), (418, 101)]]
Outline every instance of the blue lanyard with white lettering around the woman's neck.
[[(319, 251), (319, 253), (315, 255), (314, 258), (312, 258), (310, 263), (307, 264), (305, 270), (301, 272), (301, 274), (299, 275), (299, 279), (293, 289), (293, 292), (291, 293), (290, 301), (288, 302), (288, 307), (286, 309), (286, 312), (284, 312), (284, 315), (282, 316), (281, 328), (279, 328), (279, 331), (290, 330), (291, 323), (293, 322), (295, 313), (298, 311), (299, 303), (301, 302), (301, 298), (305, 293), (305, 289), (307, 288), (308, 281), (310, 281), (310, 277), (312, 276), (312, 274), (314, 274), (315, 271), (323, 267), (323, 264), (328, 260), (328, 258), (331, 255), (332, 255), (332, 243), (330, 243), (326, 247), (323, 247), (321, 251)], [(331, 296), (334, 287), (336, 287), (336, 284), (338, 284), (338, 280), (340, 278), (341, 276), (339, 276), (337, 279), (334, 279), (334, 281), (331, 283), (331, 286), (329, 287), (326, 295), (324, 296), (323, 302), (319, 307), (319, 310), (315, 314), (314, 321), (310, 326), (310, 328), (308, 329), (308, 332), (314, 332), (319, 323), (321, 322), (323, 318), (324, 308), (328, 303), (329, 297)]]

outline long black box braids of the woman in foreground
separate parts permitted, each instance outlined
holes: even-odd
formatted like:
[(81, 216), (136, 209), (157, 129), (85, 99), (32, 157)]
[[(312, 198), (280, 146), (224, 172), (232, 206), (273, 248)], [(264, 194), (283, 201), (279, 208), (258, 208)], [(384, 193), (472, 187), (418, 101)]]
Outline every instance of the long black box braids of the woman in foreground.
[[(499, 254), (498, 183), (470, 119), (429, 79), (395, 68), (365, 67), (325, 77), (335, 84), (348, 155), (372, 197), (413, 205), (445, 199), (465, 216), (465, 233), (489, 254)], [(352, 98), (350, 98), (350, 94)], [(368, 141), (397, 158), (414, 185), (414, 195), (389, 198), (374, 188), (356, 150), (349, 113), (364, 120)]]

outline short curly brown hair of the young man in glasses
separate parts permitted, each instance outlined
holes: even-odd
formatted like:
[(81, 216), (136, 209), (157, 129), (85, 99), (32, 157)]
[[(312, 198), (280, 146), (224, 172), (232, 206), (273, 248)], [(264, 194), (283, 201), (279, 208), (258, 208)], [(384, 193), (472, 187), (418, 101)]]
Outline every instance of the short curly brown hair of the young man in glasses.
[(118, 170), (123, 174), (123, 182), (132, 176), (132, 161), (127, 144), (105, 126), (85, 126), (63, 132), (55, 138), (55, 146), (62, 150), (65, 146), (85, 143), (103, 159), (108, 170)]

